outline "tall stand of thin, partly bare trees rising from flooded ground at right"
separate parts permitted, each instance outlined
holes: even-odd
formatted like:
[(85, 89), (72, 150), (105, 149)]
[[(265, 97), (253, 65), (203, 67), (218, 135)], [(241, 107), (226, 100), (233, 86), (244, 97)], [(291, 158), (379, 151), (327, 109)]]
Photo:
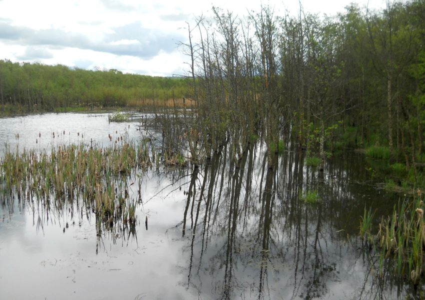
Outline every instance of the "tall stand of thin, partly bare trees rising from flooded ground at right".
[[(350, 4), (320, 17), (248, 17), (213, 7), (188, 24), (189, 94), (208, 138), (231, 137), (235, 161), (253, 134), (277, 150), (291, 136), (324, 157), (335, 147), (379, 146), (407, 168), (423, 161), (425, 1)], [(234, 129), (229, 130), (230, 123)], [(270, 160), (271, 161), (271, 160)]]

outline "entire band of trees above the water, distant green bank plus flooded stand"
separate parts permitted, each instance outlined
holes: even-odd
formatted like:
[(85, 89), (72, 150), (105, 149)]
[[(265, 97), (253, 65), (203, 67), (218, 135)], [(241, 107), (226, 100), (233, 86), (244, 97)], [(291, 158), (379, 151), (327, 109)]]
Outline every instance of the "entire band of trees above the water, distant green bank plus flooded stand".
[(173, 139), (186, 133), (194, 160), (231, 139), (237, 163), (260, 136), (270, 153), (294, 140), (322, 158), (344, 146), (383, 147), (416, 177), (425, 161), (425, 0), (388, 1), (381, 11), (350, 4), (325, 17), (268, 6), (247, 17), (212, 11), (213, 21), (187, 23), (186, 78), (0, 60), (1, 104), (30, 111), (188, 98), (195, 109), (175, 112), (167, 130)]

